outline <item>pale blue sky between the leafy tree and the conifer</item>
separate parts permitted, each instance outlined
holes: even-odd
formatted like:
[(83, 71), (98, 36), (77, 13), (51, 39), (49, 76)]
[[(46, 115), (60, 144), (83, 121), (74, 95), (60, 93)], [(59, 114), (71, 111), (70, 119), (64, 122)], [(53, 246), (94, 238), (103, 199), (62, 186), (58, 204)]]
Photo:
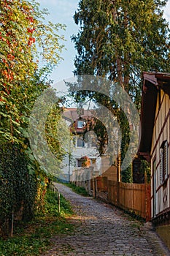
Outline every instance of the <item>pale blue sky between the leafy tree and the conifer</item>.
[[(61, 56), (63, 61), (58, 64), (53, 73), (50, 75), (50, 79), (53, 83), (72, 78), (74, 70), (74, 58), (76, 50), (74, 49), (74, 43), (71, 41), (71, 36), (77, 34), (78, 26), (74, 23), (73, 15), (78, 7), (78, 0), (36, 0), (39, 2), (41, 8), (47, 8), (50, 15), (47, 19), (53, 23), (66, 24), (66, 31), (60, 31), (64, 35), (66, 42), (64, 42), (66, 50), (63, 50)], [(164, 10), (164, 16), (170, 24), (170, 0), (166, 4)]]

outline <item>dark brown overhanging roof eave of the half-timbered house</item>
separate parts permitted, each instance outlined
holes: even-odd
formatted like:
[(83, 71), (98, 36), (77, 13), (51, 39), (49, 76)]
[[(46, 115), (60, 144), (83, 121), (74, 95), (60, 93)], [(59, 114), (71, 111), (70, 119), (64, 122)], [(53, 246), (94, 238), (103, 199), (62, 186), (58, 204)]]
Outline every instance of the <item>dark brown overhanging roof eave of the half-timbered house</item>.
[(144, 72), (143, 80), (139, 154), (147, 158), (152, 146), (158, 93), (162, 89), (170, 97), (170, 74)]

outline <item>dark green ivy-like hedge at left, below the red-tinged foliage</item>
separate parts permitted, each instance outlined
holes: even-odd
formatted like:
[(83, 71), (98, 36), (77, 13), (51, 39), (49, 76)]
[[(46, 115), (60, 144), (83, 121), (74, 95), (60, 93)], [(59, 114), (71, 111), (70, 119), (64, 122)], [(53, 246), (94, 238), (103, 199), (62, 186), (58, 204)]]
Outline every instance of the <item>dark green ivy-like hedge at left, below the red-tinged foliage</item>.
[(19, 146), (1, 145), (0, 159), (0, 236), (7, 236), (12, 211), (18, 217), (23, 208), (22, 219), (34, 217), (37, 187), (36, 177), (28, 172), (28, 158)]

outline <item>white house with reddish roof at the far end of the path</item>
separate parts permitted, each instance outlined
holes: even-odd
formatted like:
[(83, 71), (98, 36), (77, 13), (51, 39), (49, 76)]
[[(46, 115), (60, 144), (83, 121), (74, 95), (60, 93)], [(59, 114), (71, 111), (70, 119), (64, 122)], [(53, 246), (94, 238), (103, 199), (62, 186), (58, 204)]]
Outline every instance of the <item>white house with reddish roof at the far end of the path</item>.
[(92, 170), (90, 169), (91, 166), (93, 166), (93, 169), (98, 168), (98, 174), (100, 172), (96, 135), (94, 132), (87, 132), (87, 135), (83, 138), (86, 121), (91, 117), (93, 117), (93, 110), (82, 109), (79, 113), (77, 108), (66, 108), (63, 111), (63, 119), (72, 133), (72, 140), (70, 141), (71, 152), (63, 160), (60, 176), (62, 181), (70, 181), (75, 170), (78, 171), (84, 168), (87, 173)]

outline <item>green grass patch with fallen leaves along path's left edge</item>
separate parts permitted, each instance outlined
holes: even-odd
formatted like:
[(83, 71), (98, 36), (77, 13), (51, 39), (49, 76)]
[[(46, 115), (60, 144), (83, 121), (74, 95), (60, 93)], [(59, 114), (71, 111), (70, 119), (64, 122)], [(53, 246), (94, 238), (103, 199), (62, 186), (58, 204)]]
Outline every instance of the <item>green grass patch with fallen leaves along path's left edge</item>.
[(72, 208), (62, 195), (61, 214), (58, 214), (57, 196), (48, 190), (45, 207), (36, 214), (34, 221), (28, 224), (20, 223), (15, 227), (13, 238), (0, 238), (0, 255), (41, 255), (53, 245), (50, 238), (58, 233), (69, 233), (74, 230), (74, 225), (66, 222), (66, 216), (71, 214)]

